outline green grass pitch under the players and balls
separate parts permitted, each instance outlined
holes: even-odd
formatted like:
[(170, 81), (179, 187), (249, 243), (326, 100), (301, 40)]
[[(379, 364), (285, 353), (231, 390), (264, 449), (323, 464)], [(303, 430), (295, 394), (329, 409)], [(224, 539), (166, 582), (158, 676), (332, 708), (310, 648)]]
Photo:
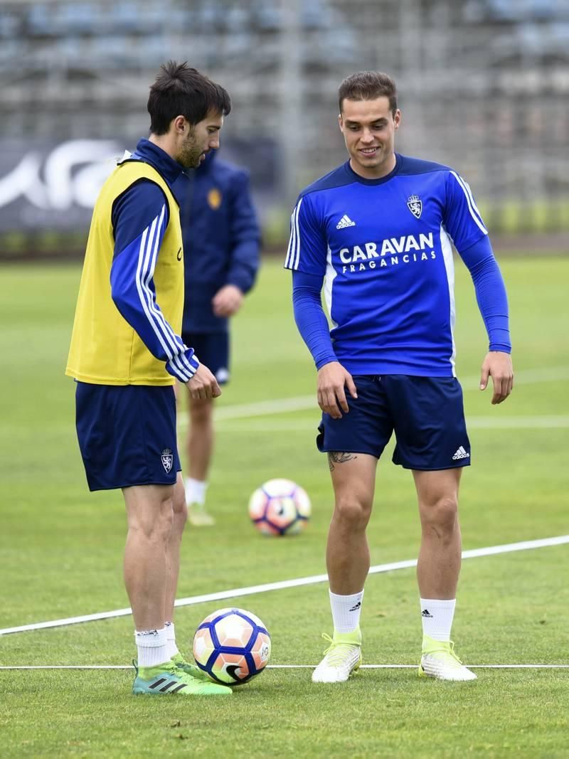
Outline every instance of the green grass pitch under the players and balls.
[[(569, 533), (569, 260), (501, 260), (517, 385), (505, 404), (478, 389), (486, 335), (457, 263), (457, 370), (473, 445), (461, 524), (472, 549)], [(0, 272), (0, 628), (128, 606), (120, 493), (89, 493), (64, 376), (78, 266)], [(209, 503), (218, 526), (188, 529), (178, 596), (319, 575), (332, 487), (313, 408), (234, 416), (229, 407), (313, 394), (315, 371), (291, 313), (290, 274), (266, 260), (234, 321), (233, 379), (218, 402)], [(259, 407), (260, 408), (260, 407)], [(228, 409), (225, 411), (225, 409)], [(182, 417), (183, 419), (183, 417)], [(379, 465), (369, 525), (373, 564), (413, 559), (420, 532), (410, 473)], [(270, 477), (306, 488), (299, 537), (265, 538), (247, 499)], [(464, 562), (453, 637), (465, 663), (569, 664), (569, 546)], [(316, 664), (331, 631), (326, 584), (178, 609), (189, 650), (215, 608), (241, 606), (272, 634), (272, 664)], [(417, 663), (413, 569), (369, 577), (364, 662)], [(0, 636), (0, 665), (127, 665), (129, 617)], [(473, 683), (425, 682), (414, 669), (365, 669), (317, 686), (309, 669), (269, 669), (230, 699), (134, 698), (124, 669), (0, 670), (3, 757), (567, 757), (569, 669), (480, 669)]]

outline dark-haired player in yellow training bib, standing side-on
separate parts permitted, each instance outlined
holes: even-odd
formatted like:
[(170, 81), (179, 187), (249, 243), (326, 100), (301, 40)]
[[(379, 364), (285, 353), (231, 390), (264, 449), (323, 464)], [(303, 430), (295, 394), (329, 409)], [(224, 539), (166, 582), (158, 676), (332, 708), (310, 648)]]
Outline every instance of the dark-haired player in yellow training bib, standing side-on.
[(231, 694), (181, 656), (174, 600), (187, 509), (176, 446), (174, 382), (220, 394), (180, 337), (184, 168), (219, 146), (228, 93), (185, 64), (150, 88), (150, 136), (102, 187), (93, 210), (66, 373), (77, 382), (77, 436), (90, 490), (121, 488), (124, 583), (137, 644), (135, 694)]

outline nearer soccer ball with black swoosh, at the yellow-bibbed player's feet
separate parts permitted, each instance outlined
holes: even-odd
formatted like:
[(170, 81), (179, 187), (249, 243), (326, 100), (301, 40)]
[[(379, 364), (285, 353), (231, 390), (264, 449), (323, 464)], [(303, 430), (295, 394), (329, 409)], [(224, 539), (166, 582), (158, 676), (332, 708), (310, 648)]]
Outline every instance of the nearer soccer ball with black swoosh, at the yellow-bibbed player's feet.
[(255, 614), (218, 609), (206, 616), (193, 636), (193, 658), (215, 682), (241, 685), (265, 669), (271, 636)]

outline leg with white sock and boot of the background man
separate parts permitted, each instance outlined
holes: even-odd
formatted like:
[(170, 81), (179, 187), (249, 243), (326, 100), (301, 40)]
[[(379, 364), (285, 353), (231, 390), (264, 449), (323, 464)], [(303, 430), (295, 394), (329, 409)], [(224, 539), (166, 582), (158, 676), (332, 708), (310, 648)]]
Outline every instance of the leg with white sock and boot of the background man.
[(205, 508), (214, 441), (212, 398), (196, 399), (188, 393), (188, 413), (190, 427), (187, 430), (186, 454), (189, 478), (186, 483), (186, 502), (190, 508), (190, 522), (205, 527), (214, 524)]

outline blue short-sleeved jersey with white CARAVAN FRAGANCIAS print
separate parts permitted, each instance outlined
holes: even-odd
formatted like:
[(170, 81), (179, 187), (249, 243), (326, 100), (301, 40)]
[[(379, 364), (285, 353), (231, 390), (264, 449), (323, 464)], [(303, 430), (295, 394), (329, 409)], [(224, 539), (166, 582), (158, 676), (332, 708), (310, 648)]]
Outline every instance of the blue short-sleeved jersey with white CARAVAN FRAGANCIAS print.
[(488, 232), (451, 168), (395, 158), (381, 179), (347, 161), (307, 187), (285, 268), (324, 278), (334, 351), (351, 374), (454, 376), (451, 241), (460, 253)]

